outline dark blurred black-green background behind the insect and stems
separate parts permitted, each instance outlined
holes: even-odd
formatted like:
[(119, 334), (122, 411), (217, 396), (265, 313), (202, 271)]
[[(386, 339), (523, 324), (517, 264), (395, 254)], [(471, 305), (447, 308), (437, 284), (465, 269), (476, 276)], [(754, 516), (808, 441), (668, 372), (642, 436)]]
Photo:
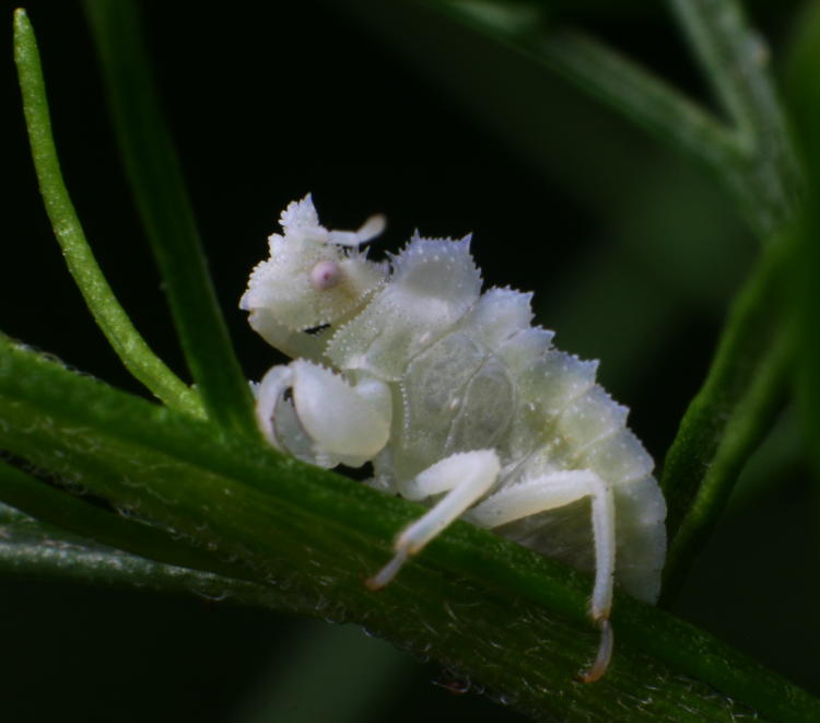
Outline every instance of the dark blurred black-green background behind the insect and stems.
[[(140, 3), (248, 376), (258, 378), (277, 358), (247, 327), (238, 298), (281, 209), (313, 191), (331, 228), (385, 212), (379, 246), (387, 249), (417, 226), (430, 236), (472, 231), (487, 283), (537, 292), (538, 322), (557, 330), (559, 347), (602, 360), (602, 383), (631, 407), (633, 429), (661, 459), (754, 255), (730, 201), (691, 162), (515, 54), (431, 15), (390, 15), (376, 4)], [(588, 3), (572, 19), (705, 95), (654, 3), (623, 3), (618, 14), (601, 5)], [(11, 57), (13, 7), (0, 2), (0, 328), (142, 394), (94, 327), (39, 202)], [(769, 14), (755, 7), (775, 59), (789, 7)], [(63, 173), (89, 240), (137, 327), (184, 375), (81, 9), (44, 0), (27, 8)], [(820, 692), (811, 603), (817, 495), (797, 438), (787, 411), (678, 609)], [(362, 705), (374, 721), (517, 718), (431, 685), (453, 681), (352, 629), (47, 582), (5, 580), (0, 591), (4, 721), (321, 720), (311, 705), (343, 698), (342, 673), (351, 670), (370, 689), (373, 700)], [(338, 720), (348, 720), (342, 708)]]

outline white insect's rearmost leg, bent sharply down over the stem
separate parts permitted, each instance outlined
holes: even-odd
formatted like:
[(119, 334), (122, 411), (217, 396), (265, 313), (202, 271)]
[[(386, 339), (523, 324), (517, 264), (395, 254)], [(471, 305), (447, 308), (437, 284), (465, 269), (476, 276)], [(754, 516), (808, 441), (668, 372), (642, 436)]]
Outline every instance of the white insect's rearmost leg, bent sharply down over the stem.
[(614, 574), (614, 503), (610, 486), (588, 469), (555, 471), (500, 490), (470, 511), (469, 518), (483, 527), (497, 527), (522, 517), (554, 510), (582, 498), (591, 498), (595, 543), (595, 587), (590, 603), (593, 619), (601, 630), (601, 641), (593, 666), (584, 674), (591, 683), (600, 678), (612, 654), (612, 606)]

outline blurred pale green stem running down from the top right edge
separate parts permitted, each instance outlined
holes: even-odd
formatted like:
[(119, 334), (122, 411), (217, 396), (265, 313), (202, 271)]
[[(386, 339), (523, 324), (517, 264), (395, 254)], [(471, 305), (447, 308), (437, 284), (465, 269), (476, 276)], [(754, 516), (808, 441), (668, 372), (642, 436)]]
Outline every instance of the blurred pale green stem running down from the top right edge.
[(748, 158), (747, 211), (764, 241), (776, 236), (794, 217), (803, 184), (765, 42), (735, 0), (670, 0), (670, 7)]

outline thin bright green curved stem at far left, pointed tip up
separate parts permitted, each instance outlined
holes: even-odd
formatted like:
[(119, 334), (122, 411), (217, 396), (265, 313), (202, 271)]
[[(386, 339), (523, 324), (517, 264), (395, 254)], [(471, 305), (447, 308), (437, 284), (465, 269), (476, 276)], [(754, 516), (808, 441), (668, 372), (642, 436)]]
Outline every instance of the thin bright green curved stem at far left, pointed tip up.
[(198, 395), (154, 354), (134, 329), (89, 247), (60, 172), (37, 42), (24, 10), (14, 14), (14, 59), (34, 168), (46, 212), (69, 271), (94, 320), (126, 369), (157, 398), (174, 409), (201, 416), (203, 411)]

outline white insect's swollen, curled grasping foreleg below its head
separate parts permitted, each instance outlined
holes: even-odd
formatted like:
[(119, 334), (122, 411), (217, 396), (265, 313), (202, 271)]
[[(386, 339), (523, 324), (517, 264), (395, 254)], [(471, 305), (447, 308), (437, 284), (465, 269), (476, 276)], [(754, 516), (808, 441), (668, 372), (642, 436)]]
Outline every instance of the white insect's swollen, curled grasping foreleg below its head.
[(265, 375), (256, 389), (256, 415), (274, 447), (323, 467), (359, 467), (385, 446), (390, 433), (384, 383), (364, 378), (352, 385), (301, 359)]

